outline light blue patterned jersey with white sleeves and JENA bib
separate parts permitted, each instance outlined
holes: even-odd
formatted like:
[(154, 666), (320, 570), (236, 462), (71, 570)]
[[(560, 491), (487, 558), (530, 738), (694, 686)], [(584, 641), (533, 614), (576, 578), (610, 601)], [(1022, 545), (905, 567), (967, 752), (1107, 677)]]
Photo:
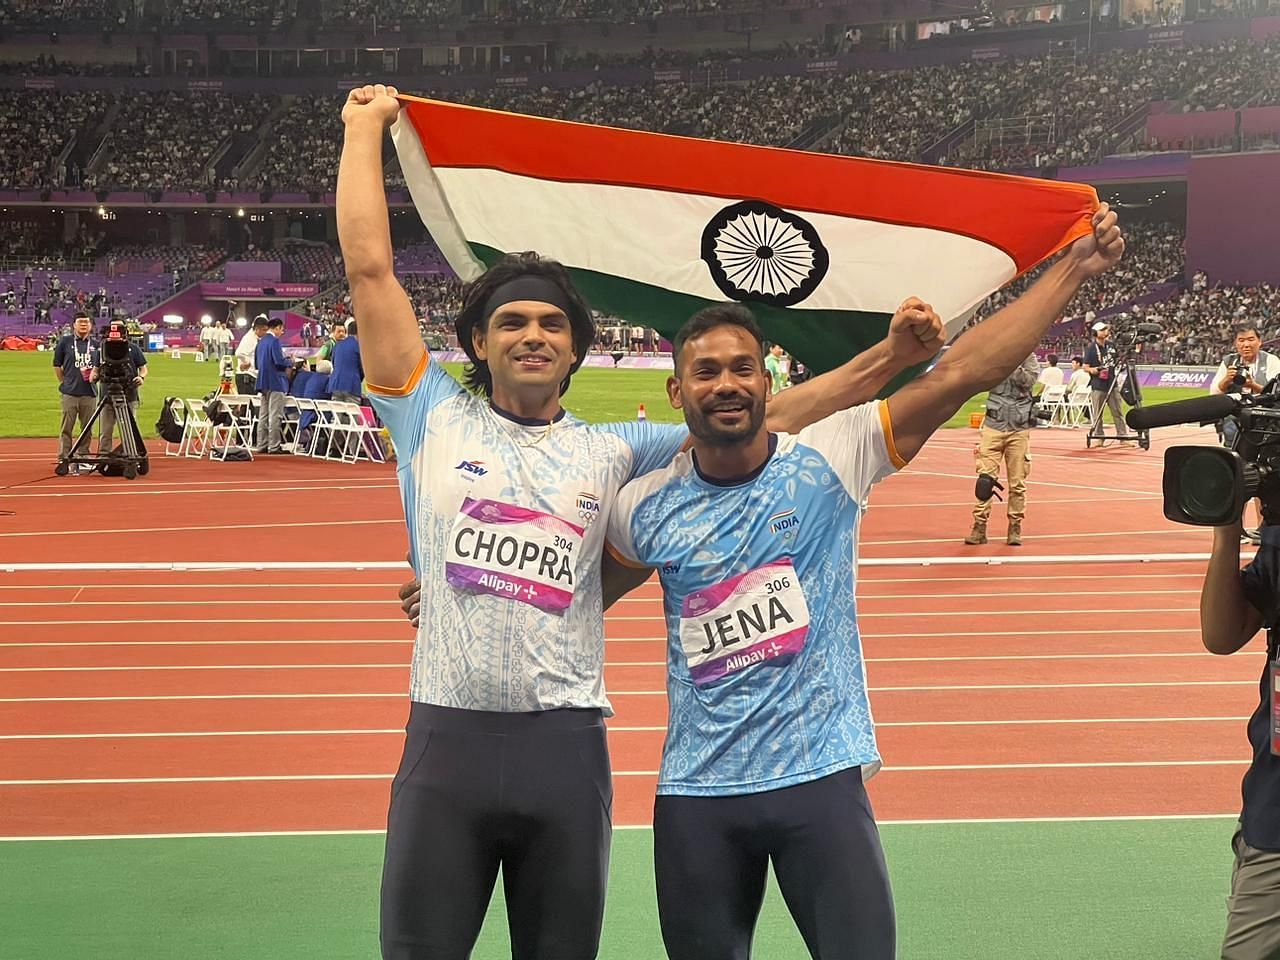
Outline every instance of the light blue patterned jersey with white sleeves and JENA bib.
[(771, 440), (760, 472), (735, 485), (682, 453), (623, 488), (609, 518), (614, 554), (662, 579), (659, 794), (754, 794), (879, 768), (854, 590), (860, 504), (904, 466), (887, 407)]

